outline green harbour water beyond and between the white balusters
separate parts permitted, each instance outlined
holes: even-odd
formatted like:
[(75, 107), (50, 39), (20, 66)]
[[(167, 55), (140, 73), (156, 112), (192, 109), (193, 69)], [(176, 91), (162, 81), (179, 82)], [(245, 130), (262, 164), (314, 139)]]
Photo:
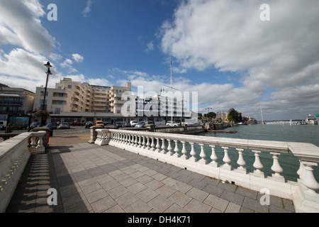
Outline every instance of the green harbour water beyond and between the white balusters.
[[(257, 124), (247, 126), (234, 126), (226, 128), (224, 131), (237, 131), (237, 133), (202, 133), (200, 135), (215, 136), (224, 138), (243, 138), (252, 140), (275, 140), (286, 142), (301, 142), (301, 143), (313, 143), (319, 147), (319, 126), (310, 125), (289, 125), (289, 124)], [(205, 148), (206, 155), (211, 155), (211, 149)], [(196, 153), (199, 153), (199, 148), (196, 148)], [(218, 156), (218, 162), (223, 165), (223, 150), (216, 147), (216, 154)], [(232, 165), (236, 168), (238, 154), (235, 148), (229, 150), (230, 159)], [(254, 171), (252, 164), (254, 163), (254, 153), (251, 150), (244, 150), (244, 158), (247, 163), (246, 167), (249, 172)], [(199, 157), (199, 156), (198, 156)], [(260, 155), (262, 164), (264, 165), (265, 175), (272, 175), (272, 155), (267, 152), (262, 152)], [(296, 181), (298, 175), (296, 172), (299, 168), (298, 158), (292, 154), (282, 153), (279, 155), (279, 163), (284, 169), (282, 175), (287, 180)], [(315, 179), (319, 182), (319, 167), (314, 168)]]

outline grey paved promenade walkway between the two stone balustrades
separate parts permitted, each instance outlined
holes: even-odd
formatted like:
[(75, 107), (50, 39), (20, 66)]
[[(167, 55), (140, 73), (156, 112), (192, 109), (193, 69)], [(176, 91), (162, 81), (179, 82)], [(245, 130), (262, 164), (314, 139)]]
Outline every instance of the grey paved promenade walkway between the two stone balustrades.
[[(262, 206), (259, 192), (88, 140), (51, 137), (47, 153), (30, 157), (6, 212), (294, 212), (289, 200), (270, 196)], [(50, 188), (56, 206), (47, 204)]]

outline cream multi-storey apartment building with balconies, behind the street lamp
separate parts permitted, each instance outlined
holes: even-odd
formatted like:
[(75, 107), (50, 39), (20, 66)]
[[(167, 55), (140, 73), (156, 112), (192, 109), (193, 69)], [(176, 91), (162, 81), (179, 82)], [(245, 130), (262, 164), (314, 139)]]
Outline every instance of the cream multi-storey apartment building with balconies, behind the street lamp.
[[(52, 121), (125, 121), (121, 115), (125, 101), (121, 96), (130, 90), (130, 82), (124, 87), (106, 87), (63, 78), (55, 89), (47, 88), (45, 109)], [(43, 87), (36, 88), (33, 110), (43, 108), (44, 91)]]

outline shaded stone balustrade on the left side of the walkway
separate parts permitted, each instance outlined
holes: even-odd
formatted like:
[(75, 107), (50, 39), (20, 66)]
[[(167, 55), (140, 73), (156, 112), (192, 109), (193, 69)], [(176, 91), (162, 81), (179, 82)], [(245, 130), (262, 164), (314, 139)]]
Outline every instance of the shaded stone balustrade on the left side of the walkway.
[(6, 211), (31, 154), (44, 153), (45, 131), (21, 133), (0, 143), (0, 212)]

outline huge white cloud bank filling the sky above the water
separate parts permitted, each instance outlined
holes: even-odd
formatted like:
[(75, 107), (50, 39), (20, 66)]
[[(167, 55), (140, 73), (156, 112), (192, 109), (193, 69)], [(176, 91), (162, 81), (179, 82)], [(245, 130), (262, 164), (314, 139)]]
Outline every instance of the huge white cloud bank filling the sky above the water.
[[(177, 59), (179, 68), (241, 74), (240, 87), (223, 91), (224, 85), (216, 84), (198, 90), (213, 95), (203, 97), (211, 105), (248, 111), (247, 106), (254, 109), (263, 100), (265, 111), (280, 106), (288, 113), (291, 106), (318, 103), (313, 91), (319, 84), (318, 1), (269, 1), (270, 21), (261, 21), (264, 3), (189, 0), (174, 12), (173, 21), (162, 23), (162, 51)], [(265, 97), (267, 89), (272, 93)], [(298, 99), (289, 98), (291, 91)]]

